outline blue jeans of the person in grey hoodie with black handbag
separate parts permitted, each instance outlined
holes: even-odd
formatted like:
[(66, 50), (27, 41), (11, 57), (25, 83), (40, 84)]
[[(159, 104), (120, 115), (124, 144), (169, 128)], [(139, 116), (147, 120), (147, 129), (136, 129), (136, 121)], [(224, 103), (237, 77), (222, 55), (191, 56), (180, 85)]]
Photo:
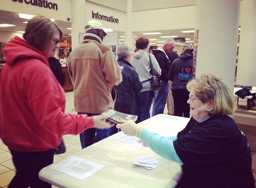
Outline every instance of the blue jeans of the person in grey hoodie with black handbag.
[(138, 115), (135, 123), (140, 123), (150, 118), (150, 108), (154, 98), (155, 91), (143, 91), (135, 96), (134, 115)]

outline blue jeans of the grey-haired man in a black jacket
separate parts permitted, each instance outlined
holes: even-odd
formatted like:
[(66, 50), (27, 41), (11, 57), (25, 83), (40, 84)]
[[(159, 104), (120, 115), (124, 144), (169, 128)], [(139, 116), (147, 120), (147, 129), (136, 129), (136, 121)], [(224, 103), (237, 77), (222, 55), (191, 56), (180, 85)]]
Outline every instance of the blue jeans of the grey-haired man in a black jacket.
[(157, 114), (164, 114), (164, 107), (166, 105), (168, 96), (169, 83), (161, 82), (161, 89), (155, 94), (152, 116)]

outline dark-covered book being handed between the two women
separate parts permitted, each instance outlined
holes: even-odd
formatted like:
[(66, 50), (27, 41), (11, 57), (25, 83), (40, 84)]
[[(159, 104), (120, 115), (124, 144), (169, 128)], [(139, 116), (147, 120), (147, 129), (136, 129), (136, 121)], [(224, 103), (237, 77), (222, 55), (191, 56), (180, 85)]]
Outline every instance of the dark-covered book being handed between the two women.
[(113, 122), (116, 124), (122, 123), (123, 120), (135, 122), (138, 118), (137, 115), (126, 114), (126, 113), (118, 112), (113, 109), (106, 110), (105, 112), (103, 112), (101, 114), (108, 117), (108, 120), (110, 122)]

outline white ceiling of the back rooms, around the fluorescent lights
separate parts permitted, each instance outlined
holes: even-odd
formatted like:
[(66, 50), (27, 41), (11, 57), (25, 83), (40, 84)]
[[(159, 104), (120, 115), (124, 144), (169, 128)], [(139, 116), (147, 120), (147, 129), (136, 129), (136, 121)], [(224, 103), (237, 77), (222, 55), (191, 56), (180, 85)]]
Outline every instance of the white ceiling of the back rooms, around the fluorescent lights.
[[(26, 19), (20, 18), (17, 12), (8, 12), (4, 10), (0, 10), (0, 24), (12, 24), (16, 26), (12, 27), (0, 27), (0, 31), (7, 31), (7, 32), (17, 32), (17, 31), (25, 31), (26, 24), (23, 22), (27, 21)], [(71, 28), (71, 22), (68, 21), (61, 21), (55, 20), (58, 25), (63, 29), (63, 37), (70, 37), (68, 34), (71, 34), (71, 30), (66, 28)], [(184, 30), (193, 30), (193, 28), (184, 29)], [(176, 35), (178, 37), (190, 38), (193, 41), (194, 33), (181, 33), (181, 29), (174, 29), (174, 30), (154, 30), (154, 31), (147, 31), (147, 32), (159, 32), (162, 34), (158, 35), (143, 35), (143, 32), (135, 32), (134, 35), (137, 37), (147, 37), (149, 39), (157, 39), (157, 41), (165, 41), (166, 38), (160, 38), (160, 36), (173, 36)], [(124, 32), (119, 32), (119, 36), (124, 36)], [(120, 39), (123, 39), (119, 37)], [(151, 41), (156, 43), (155, 41)], [(159, 43), (157, 43), (159, 44)]]

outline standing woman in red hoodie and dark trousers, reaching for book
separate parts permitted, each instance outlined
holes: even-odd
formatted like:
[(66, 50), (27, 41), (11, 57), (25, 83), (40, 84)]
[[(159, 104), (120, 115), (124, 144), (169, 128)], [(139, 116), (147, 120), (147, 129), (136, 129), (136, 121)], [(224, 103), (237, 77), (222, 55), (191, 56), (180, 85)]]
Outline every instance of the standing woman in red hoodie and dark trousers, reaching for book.
[(52, 73), (63, 33), (50, 18), (29, 20), (23, 38), (4, 46), (5, 65), (0, 82), (0, 137), (13, 155), (16, 175), (8, 188), (51, 188), (38, 172), (53, 163), (62, 135), (85, 129), (112, 127), (105, 116), (65, 114), (65, 92)]

